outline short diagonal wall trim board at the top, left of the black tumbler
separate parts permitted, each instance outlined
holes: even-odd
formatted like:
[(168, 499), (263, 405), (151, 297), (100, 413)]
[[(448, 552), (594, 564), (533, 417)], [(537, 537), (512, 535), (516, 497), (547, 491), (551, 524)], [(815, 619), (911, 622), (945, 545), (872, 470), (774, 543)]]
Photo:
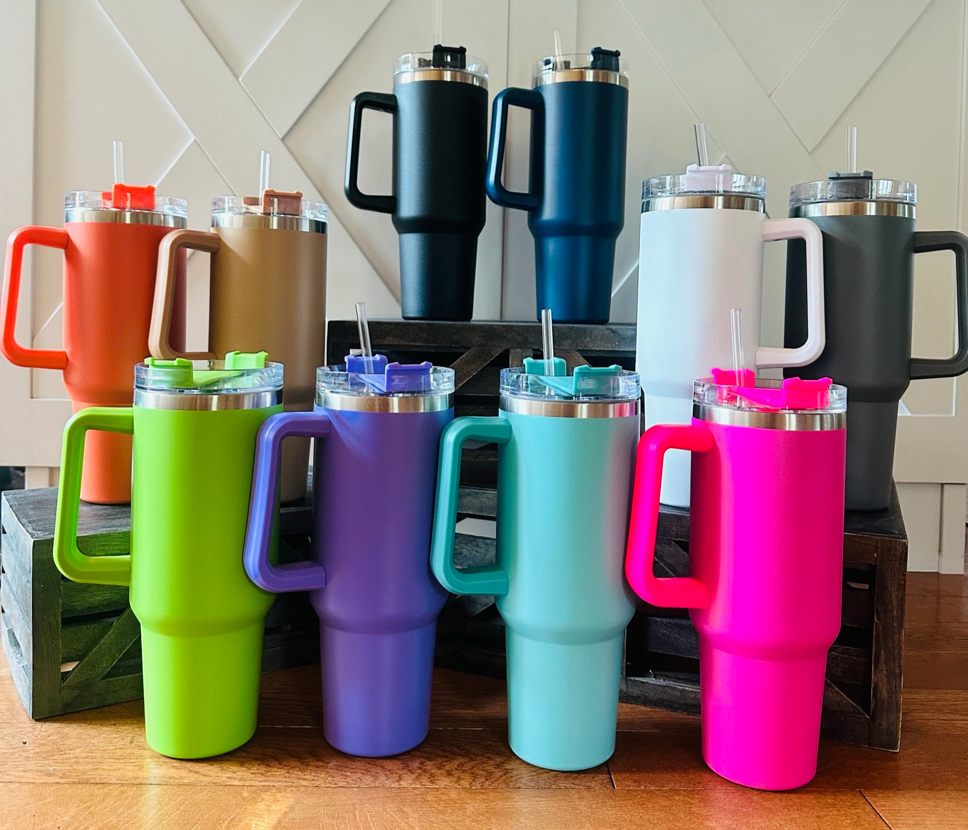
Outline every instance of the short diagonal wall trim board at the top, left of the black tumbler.
[(285, 137), (390, 0), (303, 0), (239, 78)]

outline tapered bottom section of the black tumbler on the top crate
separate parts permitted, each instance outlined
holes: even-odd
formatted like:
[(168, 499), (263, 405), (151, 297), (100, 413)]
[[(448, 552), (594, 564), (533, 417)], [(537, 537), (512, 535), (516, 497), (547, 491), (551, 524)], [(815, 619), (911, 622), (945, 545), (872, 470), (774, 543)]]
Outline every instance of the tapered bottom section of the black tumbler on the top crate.
[(401, 233), (405, 320), (467, 321), (474, 313), (476, 233)]

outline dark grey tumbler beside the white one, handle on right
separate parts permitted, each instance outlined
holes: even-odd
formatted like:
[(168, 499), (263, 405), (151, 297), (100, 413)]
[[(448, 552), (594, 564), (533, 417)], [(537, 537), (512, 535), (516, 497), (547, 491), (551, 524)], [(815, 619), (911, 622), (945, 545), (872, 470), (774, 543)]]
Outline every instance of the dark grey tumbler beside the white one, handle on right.
[[(831, 173), (790, 190), (790, 215), (824, 235), (827, 346), (787, 377), (832, 378), (847, 386), (848, 510), (891, 502), (897, 404), (913, 380), (968, 370), (968, 238), (957, 231), (915, 231), (917, 186), (863, 172)], [(911, 357), (914, 255), (953, 251), (958, 350), (953, 357)], [(784, 345), (806, 338), (806, 260), (802, 241), (787, 243)]]

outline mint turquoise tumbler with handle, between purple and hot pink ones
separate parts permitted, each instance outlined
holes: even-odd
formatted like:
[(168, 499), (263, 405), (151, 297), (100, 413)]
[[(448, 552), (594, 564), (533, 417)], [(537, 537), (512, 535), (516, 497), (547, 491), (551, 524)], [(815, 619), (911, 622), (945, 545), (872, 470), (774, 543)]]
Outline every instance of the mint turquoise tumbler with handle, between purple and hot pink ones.
[[(508, 742), (536, 766), (580, 770), (615, 750), (625, 627), (623, 557), (639, 438), (639, 376), (618, 366), (500, 373), (498, 417), (440, 440), (431, 565), (454, 594), (496, 595), (507, 647)], [(498, 560), (454, 566), (461, 449), (499, 444)]]

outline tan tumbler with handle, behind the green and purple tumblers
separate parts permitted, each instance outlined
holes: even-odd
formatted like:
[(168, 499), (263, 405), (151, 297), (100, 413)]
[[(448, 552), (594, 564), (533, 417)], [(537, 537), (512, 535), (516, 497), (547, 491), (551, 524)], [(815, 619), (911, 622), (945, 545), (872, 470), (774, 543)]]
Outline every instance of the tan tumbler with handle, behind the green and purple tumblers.
[[(316, 369), (325, 364), (326, 205), (301, 193), (264, 190), (257, 197), (212, 201), (212, 231), (173, 231), (162, 240), (148, 344), (151, 354), (218, 359), (232, 350), (268, 352), (286, 367), (287, 412), (311, 410)], [(178, 252), (207, 251), (211, 258), (208, 348), (172, 348), (169, 327)], [(283, 445), (282, 500), (306, 495), (309, 439)]]

